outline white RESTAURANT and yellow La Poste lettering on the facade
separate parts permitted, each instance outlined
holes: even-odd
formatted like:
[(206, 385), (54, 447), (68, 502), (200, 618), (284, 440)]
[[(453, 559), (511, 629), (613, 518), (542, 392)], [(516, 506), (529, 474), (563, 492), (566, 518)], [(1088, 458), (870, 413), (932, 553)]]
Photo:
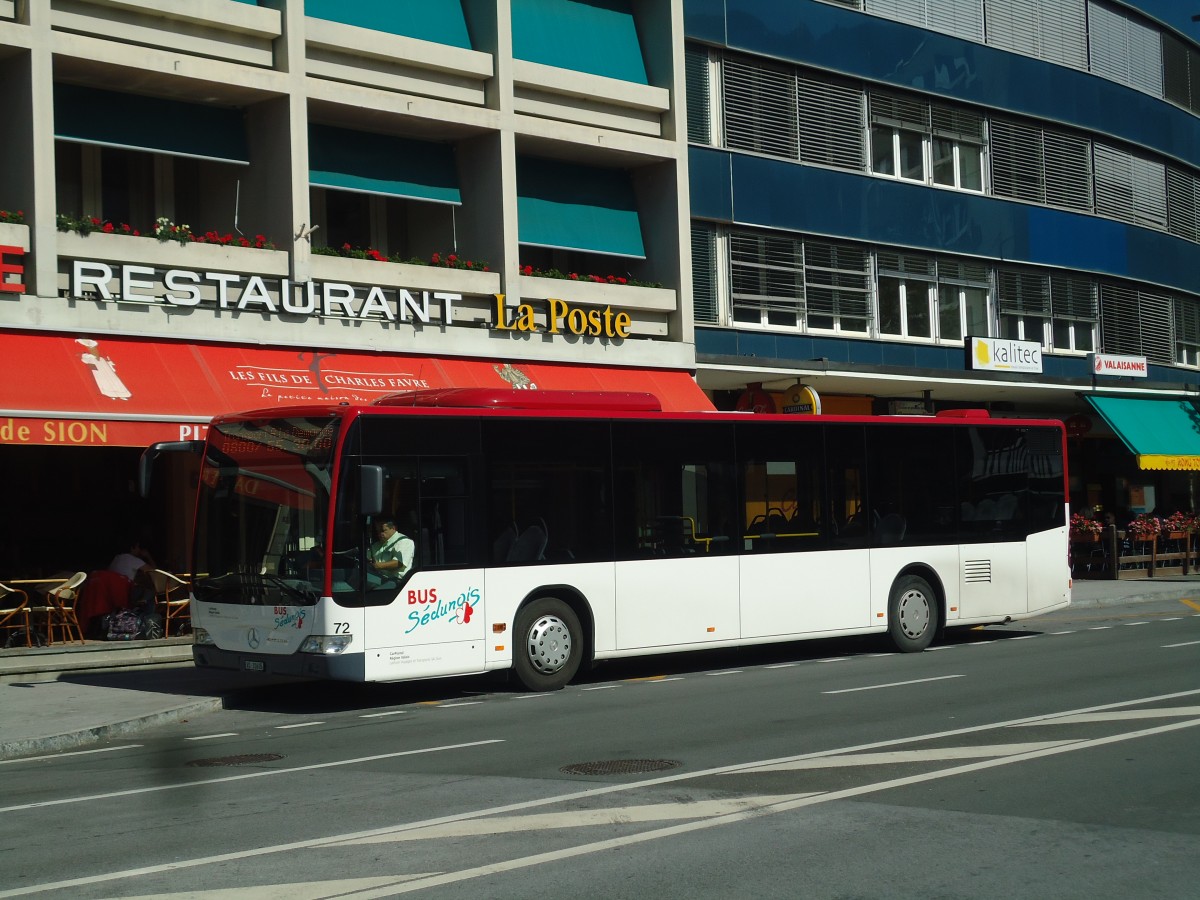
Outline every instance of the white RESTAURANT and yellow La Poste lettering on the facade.
[[(114, 289), (115, 284), (115, 289)], [(162, 304), (254, 312), (269, 316), (319, 316), (378, 322), (419, 322), (452, 325), (456, 305), (463, 294), (450, 290), (408, 290), (356, 286), (344, 282), (296, 282), (264, 278), (260, 275), (198, 272), (149, 265), (118, 265), (77, 259), (71, 266), (71, 296), (97, 298), (104, 302)], [(498, 331), (547, 335), (571, 334), (586, 337), (624, 340), (630, 336), (632, 317), (612, 306), (572, 306), (550, 298), (545, 305), (505, 300), (494, 295)]]

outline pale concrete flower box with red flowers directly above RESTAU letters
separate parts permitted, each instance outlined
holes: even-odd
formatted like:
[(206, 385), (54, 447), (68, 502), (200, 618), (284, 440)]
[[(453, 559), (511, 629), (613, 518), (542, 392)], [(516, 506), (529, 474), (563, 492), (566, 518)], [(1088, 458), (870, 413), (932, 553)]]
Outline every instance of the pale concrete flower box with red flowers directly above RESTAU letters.
[(190, 269), (286, 277), (288, 254), (282, 250), (256, 250), (220, 244), (180, 244), (125, 234), (59, 232), (59, 256), (102, 263), (131, 263), (155, 269)]

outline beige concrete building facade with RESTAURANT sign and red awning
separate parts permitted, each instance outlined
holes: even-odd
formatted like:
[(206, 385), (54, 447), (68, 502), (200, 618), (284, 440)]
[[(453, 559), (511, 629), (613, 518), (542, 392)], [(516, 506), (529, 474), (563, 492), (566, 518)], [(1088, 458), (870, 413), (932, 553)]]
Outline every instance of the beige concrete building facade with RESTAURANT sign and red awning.
[(678, 0), (0, 0), (5, 575), (184, 568), (139, 449), (230, 409), (710, 408), (683, 82)]

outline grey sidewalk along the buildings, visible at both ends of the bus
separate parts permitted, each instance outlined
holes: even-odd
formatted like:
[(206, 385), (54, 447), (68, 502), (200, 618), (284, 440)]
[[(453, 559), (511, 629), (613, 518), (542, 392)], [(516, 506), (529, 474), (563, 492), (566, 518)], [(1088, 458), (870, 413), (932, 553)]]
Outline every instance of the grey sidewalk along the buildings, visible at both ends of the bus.
[[(1172, 599), (1200, 602), (1200, 575), (1076, 581), (1072, 605)], [(257, 676), (194, 668), (190, 638), (0, 650), (0, 760), (70, 751), (182, 721), (263, 684)]]

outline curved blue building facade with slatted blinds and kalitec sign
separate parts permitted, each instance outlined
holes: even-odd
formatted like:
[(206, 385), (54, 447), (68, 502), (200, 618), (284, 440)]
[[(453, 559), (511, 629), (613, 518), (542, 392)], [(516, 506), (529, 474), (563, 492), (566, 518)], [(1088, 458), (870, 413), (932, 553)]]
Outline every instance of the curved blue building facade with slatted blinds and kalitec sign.
[(688, 0), (700, 384), (726, 408), (1057, 416), (1076, 509), (1194, 508), (1184, 7)]

